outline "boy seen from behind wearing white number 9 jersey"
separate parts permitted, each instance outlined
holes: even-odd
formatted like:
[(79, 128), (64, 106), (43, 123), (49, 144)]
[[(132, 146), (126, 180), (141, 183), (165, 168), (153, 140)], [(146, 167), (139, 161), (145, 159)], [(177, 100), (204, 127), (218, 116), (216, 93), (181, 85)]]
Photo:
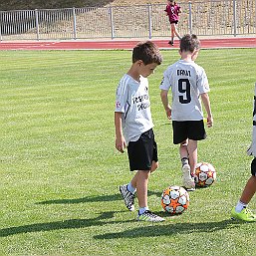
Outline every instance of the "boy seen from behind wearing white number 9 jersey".
[(179, 144), (183, 185), (187, 190), (195, 189), (193, 176), (197, 163), (197, 140), (206, 137), (201, 101), (207, 113), (208, 128), (213, 125), (208, 80), (203, 68), (194, 63), (199, 47), (200, 42), (195, 35), (183, 36), (179, 49), (181, 59), (166, 69), (159, 87), (167, 118), (172, 120), (173, 143)]

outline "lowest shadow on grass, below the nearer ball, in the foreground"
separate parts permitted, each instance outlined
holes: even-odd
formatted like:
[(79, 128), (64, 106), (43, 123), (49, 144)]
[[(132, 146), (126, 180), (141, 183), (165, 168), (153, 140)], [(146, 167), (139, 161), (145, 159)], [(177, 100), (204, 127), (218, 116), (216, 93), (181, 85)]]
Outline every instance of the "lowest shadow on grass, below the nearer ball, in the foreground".
[[(164, 222), (166, 223), (166, 222)], [(243, 222), (234, 221), (231, 219), (222, 220), (219, 222), (204, 222), (204, 223), (173, 223), (158, 225), (141, 226), (133, 228), (124, 232), (111, 232), (103, 235), (96, 235), (96, 239), (114, 239), (114, 238), (137, 238), (137, 237), (156, 237), (164, 235), (175, 235), (175, 234), (189, 234), (194, 232), (215, 232), (222, 229), (235, 228)]]

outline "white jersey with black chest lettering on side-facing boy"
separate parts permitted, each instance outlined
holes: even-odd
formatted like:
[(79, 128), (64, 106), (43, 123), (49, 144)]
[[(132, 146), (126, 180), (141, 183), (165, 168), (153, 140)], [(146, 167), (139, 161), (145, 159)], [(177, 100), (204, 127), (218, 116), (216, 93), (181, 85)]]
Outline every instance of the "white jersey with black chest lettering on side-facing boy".
[(137, 82), (127, 74), (121, 79), (116, 94), (115, 112), (123, 113), (123, 131), (127, 143), (136, 141), (142, 132), (153, 127), (148, 81), (140, 76)]

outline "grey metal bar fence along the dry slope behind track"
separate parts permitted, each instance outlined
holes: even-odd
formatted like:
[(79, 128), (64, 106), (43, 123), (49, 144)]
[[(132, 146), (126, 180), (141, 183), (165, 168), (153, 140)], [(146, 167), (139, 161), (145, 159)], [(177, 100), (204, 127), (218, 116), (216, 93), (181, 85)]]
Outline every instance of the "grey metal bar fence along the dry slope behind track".
[[(198, 36), (255, 35), (256, 0), (179, 3), (178, 30)], [(165, 4), (0, 11), (0, 40), (169, 37)]]

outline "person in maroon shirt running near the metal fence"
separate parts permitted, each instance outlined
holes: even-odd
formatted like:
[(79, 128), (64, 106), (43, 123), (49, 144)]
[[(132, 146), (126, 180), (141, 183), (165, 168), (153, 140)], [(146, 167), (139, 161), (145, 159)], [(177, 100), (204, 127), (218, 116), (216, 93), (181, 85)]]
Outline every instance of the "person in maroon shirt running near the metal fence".
[(178, 39), (180, 40), (181, 37), (177, 31), (177, 23), (179, 18), (179, 13), (181, 13), (180, 6), (177, 5), (177, 3), (173, 0), (167, 0), (167, 5), (164, 10), (166, 12), (166, 15), (169, 18), (170, 23), (170, 31), (171, 31), (171, 40), (168, 42), (169, 45), (173, 46), (174, 36), (176, 35)]

